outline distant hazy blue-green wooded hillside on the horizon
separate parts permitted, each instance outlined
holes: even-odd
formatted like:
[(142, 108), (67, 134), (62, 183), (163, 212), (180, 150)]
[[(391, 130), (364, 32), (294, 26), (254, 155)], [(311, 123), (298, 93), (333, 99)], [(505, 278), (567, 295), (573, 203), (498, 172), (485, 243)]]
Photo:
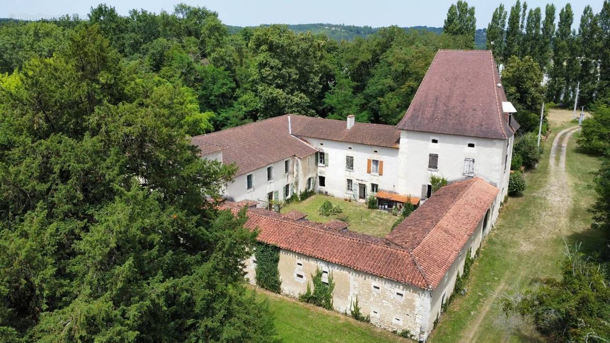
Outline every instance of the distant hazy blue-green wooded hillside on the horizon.
[[(228, 26), (230, 32), (237, 32), (242, 27), (240, 26)], [(367, 37), (367, 35), (374, 34), (377, 32), (380, 27), (371, 27), (371, 26), (354, 26), (354, 25), (343, 25), (343, 24), (295, 24), (288, 25), (289, 29), (294, 32), (307, 32), (311, 31), (314, 34), (325, 34), (331, 39), (334, 40), (353, 40), (356, 37)], [(403, 27), (403, 29), (414, 29), (419, 31), (430, 31), (435, 34), (440, 34), (443, 32), (442, 27), (433, 27), (433, 26), (409, 26)], [(478, 49), (485, 48), (486, 41), (486, 30), (478, 29), (475, 33), (475, 45)]]

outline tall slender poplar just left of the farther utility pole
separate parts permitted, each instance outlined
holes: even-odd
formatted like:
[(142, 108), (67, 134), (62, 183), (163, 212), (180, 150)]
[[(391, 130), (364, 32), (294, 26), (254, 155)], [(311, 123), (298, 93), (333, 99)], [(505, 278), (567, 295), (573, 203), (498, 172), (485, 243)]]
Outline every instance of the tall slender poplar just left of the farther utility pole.
[(547, 98), (554, 102), (566, 100), (569, 97), (566, 92), (569, 90), (571, 80), (567, 78), (569, 72), (567, 65), (570, 58), (570, 47), (572, 47), (572, 22), (574, 14), (572, 5), (566, 4), (559, 12), (559, 24), (555, 37), (553, 37), (553, 67), (550, 72), (550, 82), (548, 85)]

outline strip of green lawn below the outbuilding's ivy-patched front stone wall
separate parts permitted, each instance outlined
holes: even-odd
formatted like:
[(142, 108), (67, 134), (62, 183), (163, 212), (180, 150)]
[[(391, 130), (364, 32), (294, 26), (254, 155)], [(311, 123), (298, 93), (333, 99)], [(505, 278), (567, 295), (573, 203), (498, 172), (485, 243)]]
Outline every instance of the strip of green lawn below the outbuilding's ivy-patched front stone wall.
[(337, 312), (260, 289), (256, 292), (268, 300), (282, 342), (407, 342), (397, 334)]

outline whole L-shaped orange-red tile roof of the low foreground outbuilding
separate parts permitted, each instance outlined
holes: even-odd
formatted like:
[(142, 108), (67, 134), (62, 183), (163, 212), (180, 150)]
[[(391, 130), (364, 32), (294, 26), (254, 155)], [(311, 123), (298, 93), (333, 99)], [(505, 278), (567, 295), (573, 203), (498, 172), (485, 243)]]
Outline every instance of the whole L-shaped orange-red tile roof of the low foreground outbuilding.
[[(436, 288), (472, 236), (498, 193), (480, 178), (437, 190), (386, 238), (340, 232), (325, 224), (298, 222), (251, 208), (245, 227), (257, 239), (286, 250), (345, 265), (422, 289)], [(239, 206), (222, 205), (236, 213)]]

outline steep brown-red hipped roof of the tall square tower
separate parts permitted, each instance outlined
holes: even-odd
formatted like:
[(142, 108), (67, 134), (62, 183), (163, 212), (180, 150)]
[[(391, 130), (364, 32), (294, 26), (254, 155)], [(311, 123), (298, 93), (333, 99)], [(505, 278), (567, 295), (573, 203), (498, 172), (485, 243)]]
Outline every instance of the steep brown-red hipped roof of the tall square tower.
[(514, 134), (491, 51), (439, 50), (398, 129), (506, 139)]

